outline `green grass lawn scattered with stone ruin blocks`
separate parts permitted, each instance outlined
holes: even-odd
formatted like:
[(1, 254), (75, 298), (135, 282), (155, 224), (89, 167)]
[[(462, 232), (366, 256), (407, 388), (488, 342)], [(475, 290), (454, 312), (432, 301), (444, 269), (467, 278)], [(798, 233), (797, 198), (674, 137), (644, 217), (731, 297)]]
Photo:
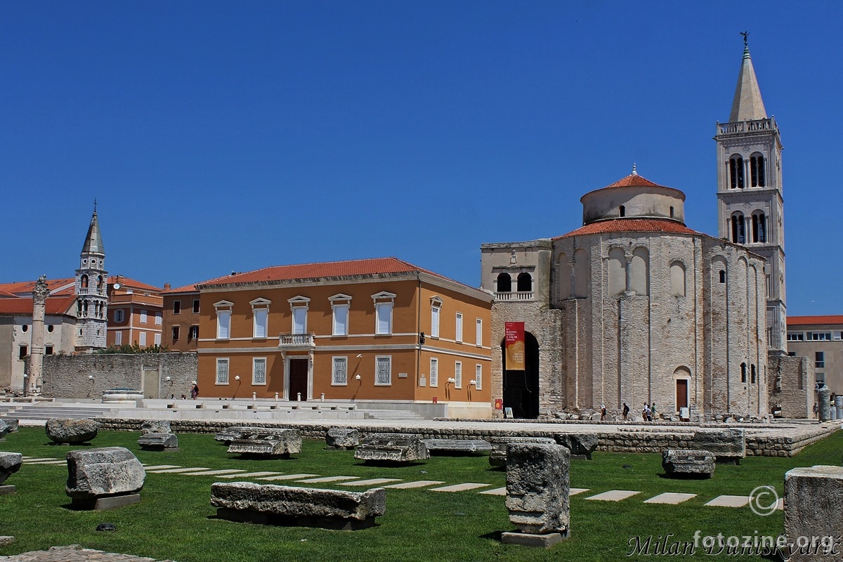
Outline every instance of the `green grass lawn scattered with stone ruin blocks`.
[[(324, 442), (303, 443), (302, 453), (288, 460), (246, 460), (226, 453), (210, 435), (179, 436), (179, 452), (148, 452), (137, 447), (137, 433), (103, 431), (96, 447), (127, 447), (142, 463), (183, 467), (274, 470), (287, 474), (348, 475), (360, 478), (443, 480), (446, 484), (481, 482), (506, 484), (506, 474), (491, 469), (486, 456), (433, 457), (405, 467), (373, 467), (356, 461), (352, 452), (325, 451)], [(502, 531), (513, 530), (501, 496), (477, 490), (454, 494), (426, 490), (388, 490), (387, 512), (376, 527), (331, 531), (309, 527), (271, 527), (228, 522), (215, 517), (210, 505), (213, 476), (148, 474), (141, 502), (111, 511), (71, 511), (65, 495), (67, 468), (25, 465), (5, 484), (14, 495), (0, 495), (0, 535), (16, 541), (0, 547), (0, 555), (19, 554), (51, 546), (81, 544), (90, 549), (174, 559), (179, 562), (238, 562), (240, 560), (620, 560), (629, 541), (673, 533), (671, 540), (702, 535), (776, 536), (783, 530), (781, 511), (760, 517), (744, 508), (706, 507), (717, 495), (748, 495), (759, 485), (783, 492), (784, 474), (797, 466), (840, 464), (843, 433), (814, 444), (796, 458), (746, 458), (738, 466), (718, 466), (712, 479), (663, 478), (657, 454), (597, 452), (592, 461), (573, 460), (571, 485), (592, 492), (571, 498), (572, 537), (553, 549), (529, 549), (502, 544)], [(48, 444), (41, 428), (21, 428), (9, 434), (5, 451), (30, 457), (63, 458), (77, 447)], [(236, 479), (235, 479), (236, 480)], [(227, 480), (230, 481), (230, 480)], [(279, 483), (283, 484), (283, 483)], [(336, 484), (314, 485), (357, 490)], [(606, 490), (641, 490), (620, 502), (585, 500)], [(644, 504), (665, 491), (697, 494), (679, 506)], [(97, 532), (101, 522), (113, 522), (114, 532)], [(671, 559), (688, 557), (672, 556)], [(698, 549), (694, 559), (708, 558)], [(758, 557), (729, 556), (728, 559)]]

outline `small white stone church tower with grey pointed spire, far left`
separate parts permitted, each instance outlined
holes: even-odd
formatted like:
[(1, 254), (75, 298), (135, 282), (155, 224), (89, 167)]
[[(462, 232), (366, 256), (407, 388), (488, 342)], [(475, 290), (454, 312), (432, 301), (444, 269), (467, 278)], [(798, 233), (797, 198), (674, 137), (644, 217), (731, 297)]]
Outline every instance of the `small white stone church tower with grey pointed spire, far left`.
[(76, 270), (76, 350), (79, 352), (90, 353), (105, 347), (108, 333), (107, 287), (105, 248), (94, 202), (94, 215), (79, 254), (79, 269)]

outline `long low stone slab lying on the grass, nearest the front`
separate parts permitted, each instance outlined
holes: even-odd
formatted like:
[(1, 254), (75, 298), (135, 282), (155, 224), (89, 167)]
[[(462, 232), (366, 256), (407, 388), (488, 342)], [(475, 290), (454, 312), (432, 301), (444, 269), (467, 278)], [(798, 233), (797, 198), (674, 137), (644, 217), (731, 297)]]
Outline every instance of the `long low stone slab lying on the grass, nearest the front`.
[(371, 527), (386, 513), (386, 490), (365, 492), (217, 482), (211, 485), (217, 517), (239, 522), (304, 525), (335, 529)]

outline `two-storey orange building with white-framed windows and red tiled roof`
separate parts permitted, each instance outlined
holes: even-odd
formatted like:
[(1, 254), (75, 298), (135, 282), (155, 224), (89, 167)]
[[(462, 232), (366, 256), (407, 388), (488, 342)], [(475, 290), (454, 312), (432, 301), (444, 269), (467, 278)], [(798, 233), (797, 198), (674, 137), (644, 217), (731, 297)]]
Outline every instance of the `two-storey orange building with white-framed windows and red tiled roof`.
[(492, 296), (395, 258), (196, 286), (202, 397), (448, 402), (491, 417)]

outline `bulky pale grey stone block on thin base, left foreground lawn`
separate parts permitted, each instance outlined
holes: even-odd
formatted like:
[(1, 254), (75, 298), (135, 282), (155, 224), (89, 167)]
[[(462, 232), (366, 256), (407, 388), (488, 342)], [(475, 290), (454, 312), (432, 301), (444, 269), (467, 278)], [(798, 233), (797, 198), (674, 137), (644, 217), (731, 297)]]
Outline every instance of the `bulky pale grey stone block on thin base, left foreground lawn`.
[(104, 510), (141, 500), (146, 479), (140, 461), (126, 447), (99, 447), (67, 453), (65, 492), (76, 509)]

